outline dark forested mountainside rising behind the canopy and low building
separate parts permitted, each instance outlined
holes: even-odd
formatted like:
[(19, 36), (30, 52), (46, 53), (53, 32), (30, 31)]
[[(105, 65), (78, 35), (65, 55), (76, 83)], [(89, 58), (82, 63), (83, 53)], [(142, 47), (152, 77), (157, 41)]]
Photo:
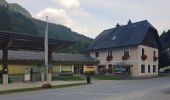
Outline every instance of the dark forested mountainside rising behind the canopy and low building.
[[(37, 35), (44, 37), (46, 22), (26, 17), (21, 13), (10, 10), (9, 6), (0, 6), (0, 30)], [(81, 53), (93, 39), (72, 32), (63, 25), (49, 23), (49, 37), (59, 40), (77, 41), (78, 43), (59, 52)]]

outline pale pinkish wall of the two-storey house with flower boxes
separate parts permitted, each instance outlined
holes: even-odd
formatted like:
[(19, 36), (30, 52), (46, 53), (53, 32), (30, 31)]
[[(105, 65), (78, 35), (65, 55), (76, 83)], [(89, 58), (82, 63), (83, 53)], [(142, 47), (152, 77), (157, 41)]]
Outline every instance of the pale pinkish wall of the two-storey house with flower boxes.
[[(125, 48), (130, 49), (130, 58), (128, 60), (122, 60), (123, 51)], [(145, 50), (145, 55), (147, 55), (147, 59), (143, 61), (141, 59), (142, 56), (142, 48)], [(126, 63), (133, 65), (132, 69), (132, 76), (148, 76), (148, 75), (157, 75), (158, 74), (158, 60), (155, 62), (153, 61), (153, 51), (156, 51), (156, 57), (158, 57), (158, 49), (147, 47), (143, 45), (139, 46), (131, 46), (131, 47), (124, 47), (124, 48), (113, 48), (112, 49), (112, 56), (113, 59), (111, 61), (107, 61), (106, 57), (108, 56), (108, 50), (99, 50), (99, 57), (95, 57), (95, 52), (90, 52), (90, 56), (100, 60), (99, 65), (106, 65), (109, 64), (116, 65), (117, 63)], [(141, 64), (145, 64), (145, 73), (141, 73)], [(148, 65), (151, 66), (151, 73), (148, 73)], [(156, 73), (153, 73), (153, 65), (156, 65)]]

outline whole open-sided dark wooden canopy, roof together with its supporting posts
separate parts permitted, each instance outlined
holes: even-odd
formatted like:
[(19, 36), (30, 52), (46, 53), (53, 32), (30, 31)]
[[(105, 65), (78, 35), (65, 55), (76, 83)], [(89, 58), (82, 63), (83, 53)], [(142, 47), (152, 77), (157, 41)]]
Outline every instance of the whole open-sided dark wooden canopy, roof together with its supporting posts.
[[(48, 60), (51, 54), (75, 42), (48, 39)], [(14, 32), (0, 31), (0, 49), (2, 49), (2, 80), (8, 83), (8, 50), (44, 51), (44, 37), (25, 35)], [(50, 71), (49, 71), (50, 73)]]

